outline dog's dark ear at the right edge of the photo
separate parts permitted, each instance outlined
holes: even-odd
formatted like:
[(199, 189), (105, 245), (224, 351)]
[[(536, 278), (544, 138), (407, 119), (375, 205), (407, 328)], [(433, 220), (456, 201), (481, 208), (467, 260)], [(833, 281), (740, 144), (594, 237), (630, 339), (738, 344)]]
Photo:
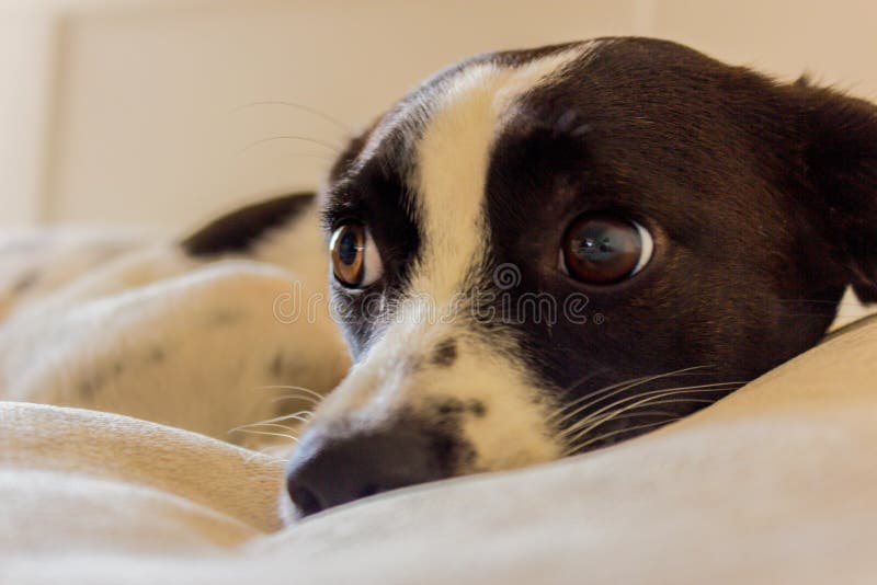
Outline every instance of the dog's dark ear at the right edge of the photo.
[(877, 106), (795, 84), (804, 173), (823, 233), (863, 302), (877, 302)]

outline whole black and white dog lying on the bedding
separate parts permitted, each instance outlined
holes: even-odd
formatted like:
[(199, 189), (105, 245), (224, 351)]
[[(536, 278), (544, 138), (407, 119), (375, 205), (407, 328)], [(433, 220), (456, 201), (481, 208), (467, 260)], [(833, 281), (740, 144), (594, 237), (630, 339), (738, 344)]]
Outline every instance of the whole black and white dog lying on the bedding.
[[(658, 39), (486, 54), (318, 194), (86, 264), (13, 279), (7, 397), (224, 438), (306, 418), (293, 519), (631, 438), (817, 344), (848, 287), (877, 301), (877, 108)], [(278, 319), (292, 280), (315, 319)], [(312, 412), (253, 398), (292, 385)]]

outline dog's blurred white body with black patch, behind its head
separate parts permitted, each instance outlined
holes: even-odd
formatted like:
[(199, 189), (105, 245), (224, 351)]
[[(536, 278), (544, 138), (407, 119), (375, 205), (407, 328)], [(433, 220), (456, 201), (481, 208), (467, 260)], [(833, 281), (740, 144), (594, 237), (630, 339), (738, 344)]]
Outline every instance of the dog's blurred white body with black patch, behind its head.
[[(317, 302), (324, 248), (312, 193), (249, 205), (176, 241), (67, 230), (0, 241), (0, 398), (286, 451), (287, 415), (349, 367)], [(265, 422), (277, 416), (283, 425)]]

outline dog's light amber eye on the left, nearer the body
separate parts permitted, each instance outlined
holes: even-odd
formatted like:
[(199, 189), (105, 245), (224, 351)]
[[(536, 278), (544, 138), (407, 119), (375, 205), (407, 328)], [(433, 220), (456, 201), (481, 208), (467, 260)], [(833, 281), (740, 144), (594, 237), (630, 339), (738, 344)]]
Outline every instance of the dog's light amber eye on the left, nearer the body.
[(377, 246), (362, 223), (338, 228), (329, 240), (332, 273), (348, 288), (368, 286), (380, 278), (381, 264)]

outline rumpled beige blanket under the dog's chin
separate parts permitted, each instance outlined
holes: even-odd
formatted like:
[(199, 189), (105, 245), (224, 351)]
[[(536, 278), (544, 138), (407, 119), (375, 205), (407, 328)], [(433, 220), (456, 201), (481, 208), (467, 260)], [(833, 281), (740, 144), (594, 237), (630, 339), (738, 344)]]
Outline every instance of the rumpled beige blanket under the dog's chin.
[(665, 429), (280, 530), (283, 462), (0, 405), (0, 583), (877, 583), (877, 322)]

